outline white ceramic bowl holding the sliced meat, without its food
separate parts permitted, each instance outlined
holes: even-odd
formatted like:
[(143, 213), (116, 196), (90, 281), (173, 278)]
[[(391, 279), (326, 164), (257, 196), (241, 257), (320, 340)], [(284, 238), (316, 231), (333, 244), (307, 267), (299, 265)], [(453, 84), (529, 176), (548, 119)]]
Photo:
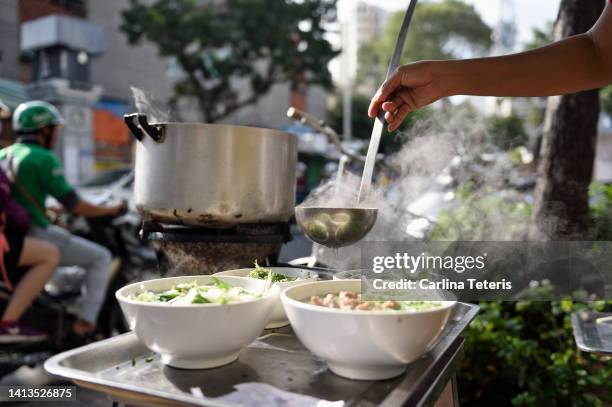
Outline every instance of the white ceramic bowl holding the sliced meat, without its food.
[(332, 372), (355, 380), (399, 376), (434, 345), (455, 301), (427, 311), (354, 311), (307, 304), (313, 295), (361, 290), (359, 280), (319, 281), (291, 287), (281, 300), (293, 330)]

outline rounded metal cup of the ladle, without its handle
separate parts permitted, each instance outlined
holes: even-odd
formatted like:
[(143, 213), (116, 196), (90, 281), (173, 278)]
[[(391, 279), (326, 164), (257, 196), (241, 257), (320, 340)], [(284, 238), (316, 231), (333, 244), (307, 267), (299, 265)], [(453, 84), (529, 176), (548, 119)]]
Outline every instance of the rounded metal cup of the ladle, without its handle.
[(376, 222), (376, 208), (326, 208), (298, 206), (295, 218), (315, 243), (337, 249), (363, 239)]

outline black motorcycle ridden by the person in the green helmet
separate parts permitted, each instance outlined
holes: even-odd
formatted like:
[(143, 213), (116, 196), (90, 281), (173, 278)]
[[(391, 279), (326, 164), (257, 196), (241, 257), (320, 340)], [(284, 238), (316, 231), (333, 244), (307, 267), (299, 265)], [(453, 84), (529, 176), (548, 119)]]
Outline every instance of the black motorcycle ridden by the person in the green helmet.
[[(159, 276), (153, 248), (139, 238), (141, 219), (136, 212), (119, 217), (85, 219), (61, 215), (60, 223), (75, 235), (101, 244), (113, 255), (112, 277), (98, 319), (99, 332), (110, 337), (127, 332), (115, 291), (122, 286)], [(72, 348), (75, 343), (71, 326), (75, 319), (85, 271), (60, 267), (45, 285), (22, 320), (49, 333), (44, 342), (7, 344), (0, 347), (0, 377), (23, 365), (34, 366), (54, 353)], [(10, 292), (0, 284), (0, 303), (10, 299)]]

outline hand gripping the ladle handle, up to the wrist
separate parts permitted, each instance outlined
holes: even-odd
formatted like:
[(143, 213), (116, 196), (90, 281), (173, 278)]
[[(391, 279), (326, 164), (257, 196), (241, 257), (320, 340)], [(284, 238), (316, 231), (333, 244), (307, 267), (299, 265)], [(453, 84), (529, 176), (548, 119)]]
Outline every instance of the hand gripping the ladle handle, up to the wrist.
[(423, 61), (398, 68), (372, 98), (368, 116), (376, 117), (382, 108), (389, 131), (395, 131), (410, 112), (445, 96), (437, 66)]

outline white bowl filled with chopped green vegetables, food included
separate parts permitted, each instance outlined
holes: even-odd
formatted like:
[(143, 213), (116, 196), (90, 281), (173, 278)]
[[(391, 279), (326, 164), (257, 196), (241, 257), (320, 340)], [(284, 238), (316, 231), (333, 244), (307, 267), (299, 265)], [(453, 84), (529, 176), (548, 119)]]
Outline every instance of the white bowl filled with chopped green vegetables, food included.
[(130, 328), (164, 364), (206, 369), (238, 358), (263, 331), (280, 289), (245, 277), (182, 276), (115, 294)]

